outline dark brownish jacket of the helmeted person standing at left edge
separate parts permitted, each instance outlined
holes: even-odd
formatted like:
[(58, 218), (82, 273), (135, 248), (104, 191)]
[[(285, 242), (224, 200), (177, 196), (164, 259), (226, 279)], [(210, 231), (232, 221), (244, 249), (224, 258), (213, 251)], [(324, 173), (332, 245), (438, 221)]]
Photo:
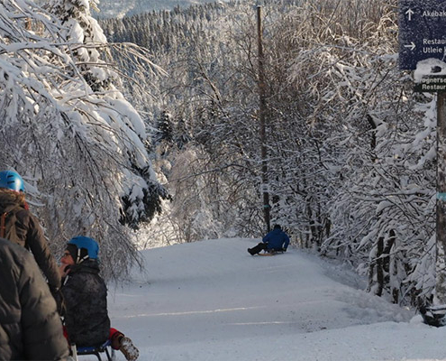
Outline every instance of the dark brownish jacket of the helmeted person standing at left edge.
[(60, 288), (58, 265), (51, 255), (39, 221), (27, 208), (23, 194), (0, 189), (0, 215), (4, 212), (14, 212), (15, 216), (14, 232), (16, 236), (11, 241), (31, 250), (41, 271), (47, 277), (51, 290), (57, 290)]

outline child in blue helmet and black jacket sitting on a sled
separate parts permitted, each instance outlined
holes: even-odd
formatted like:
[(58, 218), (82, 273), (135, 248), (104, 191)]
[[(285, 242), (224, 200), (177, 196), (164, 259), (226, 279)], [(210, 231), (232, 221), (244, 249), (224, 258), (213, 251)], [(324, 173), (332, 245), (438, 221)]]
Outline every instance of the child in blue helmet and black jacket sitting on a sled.
[(77, 347), (103, 344), (108, 338), (127, 360), (136, 360), (139, 351), (122, 332), (110, 328), (107, 288), (99, 275), (99, 245), (93, 238), (75, 236), (60, 260), (63, 277), (65, 336)]

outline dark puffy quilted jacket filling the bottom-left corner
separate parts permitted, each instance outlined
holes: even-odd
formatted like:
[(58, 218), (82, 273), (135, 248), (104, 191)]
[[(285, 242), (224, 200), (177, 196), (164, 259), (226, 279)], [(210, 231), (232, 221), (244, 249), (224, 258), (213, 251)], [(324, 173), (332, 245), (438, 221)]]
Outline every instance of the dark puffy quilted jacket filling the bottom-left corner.
[(0, 359), (68, 357), (56, 302), (32, 255), (0, 238)]

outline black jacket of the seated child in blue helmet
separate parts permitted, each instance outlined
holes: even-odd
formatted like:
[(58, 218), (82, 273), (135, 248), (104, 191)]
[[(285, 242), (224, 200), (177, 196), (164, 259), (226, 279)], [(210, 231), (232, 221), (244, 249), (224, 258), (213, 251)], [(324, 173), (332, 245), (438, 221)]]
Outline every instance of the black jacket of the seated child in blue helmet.
[(77, 347), (96, 346), (109, 337), (107, 288), (95, 260), (70, 266), (62, 285), (65, 302), (64, 324), (70, 343)]

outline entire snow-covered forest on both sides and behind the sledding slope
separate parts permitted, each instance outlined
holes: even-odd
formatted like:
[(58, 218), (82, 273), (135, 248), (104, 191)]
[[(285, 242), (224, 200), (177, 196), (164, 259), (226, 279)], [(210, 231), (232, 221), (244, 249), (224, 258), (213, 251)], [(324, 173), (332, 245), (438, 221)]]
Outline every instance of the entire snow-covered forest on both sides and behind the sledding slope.
[(262, 3), (268, 184), (255, 6), (99, 22), (96, 6), (0, 5), (0, 165), (23, 174), (56, 251), (88, 233), (115, 276), (134, 230), (148, 246), (259, 237), (268, 189), (295, 245), (396, 303), (441, 298), (435, 96), (397, 67), (396, 0)]

